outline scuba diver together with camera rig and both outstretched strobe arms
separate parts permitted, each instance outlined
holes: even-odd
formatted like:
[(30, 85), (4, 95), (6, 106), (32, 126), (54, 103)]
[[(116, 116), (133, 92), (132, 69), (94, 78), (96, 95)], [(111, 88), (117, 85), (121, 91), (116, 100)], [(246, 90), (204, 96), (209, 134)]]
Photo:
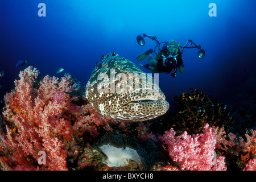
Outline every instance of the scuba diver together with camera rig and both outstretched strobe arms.
[[(177, 70), (179, 70), (180, 73), (184, 72), (184, 64), (183, 59), (181, 57), (184, 48), (197, 48), (199, 49), (199, 52), (197, 53), (197, 57), (199, 59), (203, 59), (205, 55), (204, 49), (201, 49), (201, 46), (196, 46), (195, 43), (193, 43), (192, 40), (188, 40), (187, 43), (185, 43), (184, 46), (180, 46), (177, 44), (175, 40), (170, 40), (170, 42), (162, 42), (164, 43), (162, 49), (160, 48), (160, 44), (158, 40), (156, 40), (156, 36), (148, 36), (146, 34), (141, 34), (137, 36), (137, 42), (139, 46), (144, 46), (145, 40), (144, 37), (150, 38), (152, 40), (155, 40), (156, 47), (158, 47), (159, 51), (158, 53), (155, 52), (155, 49), (148, 49), (146, 52), (141, 53), (139, 56), (137, 56), (138, 61), (142, 61), (148, 57), (148, 64), (142, 65), (139, 64), (141, 67), (146, 68), (153, 73), (170, 73), (172, 70), (174, 70), (173, 73), (171, 73), (172, 77), (176, 77)], [(188, 47), (188, 43), (193, 44), (194, 47)], [(181, 48), (181, 49), (180, 49)], [(156, 56), (153, 58), (152, 53), (155, 53)]]

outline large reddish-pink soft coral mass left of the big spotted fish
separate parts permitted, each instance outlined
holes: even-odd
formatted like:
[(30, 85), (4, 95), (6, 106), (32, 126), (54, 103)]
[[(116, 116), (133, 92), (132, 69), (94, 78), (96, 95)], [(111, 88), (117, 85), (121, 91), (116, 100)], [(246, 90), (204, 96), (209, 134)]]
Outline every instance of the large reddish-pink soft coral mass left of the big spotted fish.
[[(39, 71), (28, 67), (20, 72), (15, 89), (5, 96), (6, 128), (0, 130), (0, 168), (67, 170), (68, 150), (77, 148), (75, 133), (96, 137), (98, 126), (109, 127), (112, 119), (102, 117), (85, 98), (64, 92), (78, 92), (79, 84), (70, 76), (45, 76), (36, 81)], [(81, 101), (81, 100), (80, 100)], [(74, 124), (75, 123), (75, 124)], [(39, 164), (45, 152), (46, 163)], [(71, 152), (72, 153), (72, 152)]]

